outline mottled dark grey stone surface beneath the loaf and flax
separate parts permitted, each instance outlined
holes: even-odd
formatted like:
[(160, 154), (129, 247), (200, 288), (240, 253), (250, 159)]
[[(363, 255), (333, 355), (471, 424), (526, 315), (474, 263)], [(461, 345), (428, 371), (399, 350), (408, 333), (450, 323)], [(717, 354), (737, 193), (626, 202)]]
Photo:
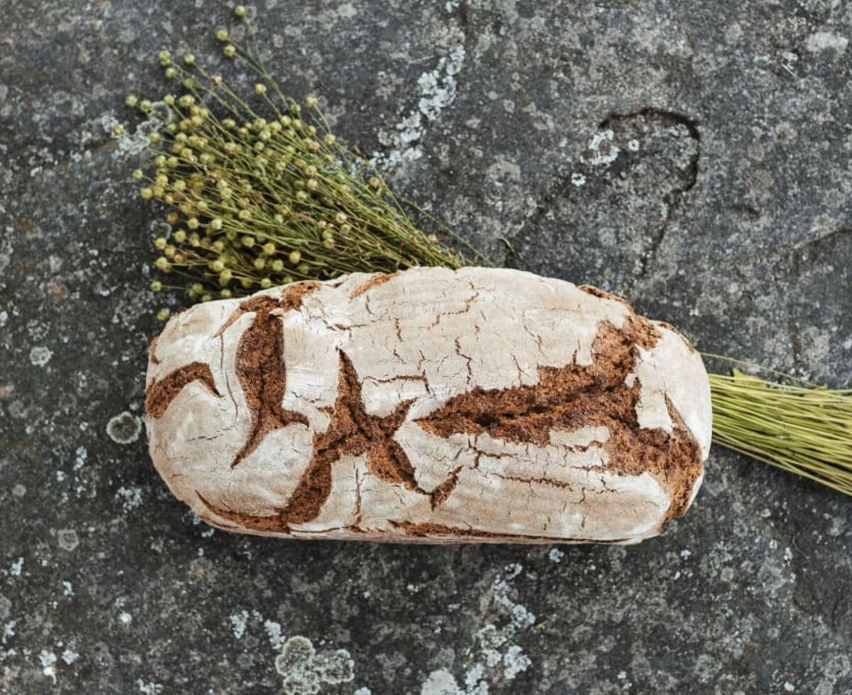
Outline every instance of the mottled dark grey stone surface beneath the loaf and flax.
[[(291, 92), (496, 262), (852, 381), (850, 3), (257, 16)], [(852, 502), (722, 449), (688, 516), (638, 547), (409, 548), (210, 533), (144, 435), (114, 441), (130, 416), (107, 434), (141, 413), (165, 300), (158, 213), (108, 126), (132, 132), (124, 94), (163, 90), (158, 48), (215, 63), (230, 21), (215, 0), (3, 3), (0, 691), (281, 692), (275, 657), (303, 635), (354, 676), (291, 659), (304, 692), (850, 692)]]

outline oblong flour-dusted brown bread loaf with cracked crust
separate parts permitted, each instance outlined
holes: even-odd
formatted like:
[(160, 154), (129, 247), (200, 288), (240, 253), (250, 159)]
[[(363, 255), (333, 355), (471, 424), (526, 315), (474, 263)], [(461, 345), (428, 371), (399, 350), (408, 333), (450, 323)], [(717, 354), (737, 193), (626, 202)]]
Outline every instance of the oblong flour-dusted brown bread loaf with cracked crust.
[(176, 497), (282, 538), (636, 543), (687, 510), (711, 441), (676, 331), (485, 268), (193, 306), (151, 345), (146, 411)]

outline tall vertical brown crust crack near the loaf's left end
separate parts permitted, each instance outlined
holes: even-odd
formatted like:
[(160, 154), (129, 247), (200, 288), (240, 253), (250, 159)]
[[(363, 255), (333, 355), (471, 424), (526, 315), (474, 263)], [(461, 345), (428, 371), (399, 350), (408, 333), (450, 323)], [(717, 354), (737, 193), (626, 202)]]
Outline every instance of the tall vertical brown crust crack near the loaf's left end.
[(284, 330), (279, 317), (270, 313), (278, 308), (279, 300), (268, 296), (246, 299), (239, 305), (240, 311), (255, 314), (250, 328), (240, 336), (235, 366), (251, 413), (251, 424), (249, 436), (233, 458), (232, 468), (254, 452), (269, 432), (291, 424), (308, 426), (308, 419), (302, 413), (285, 410), (281, 405), (286, 390)]

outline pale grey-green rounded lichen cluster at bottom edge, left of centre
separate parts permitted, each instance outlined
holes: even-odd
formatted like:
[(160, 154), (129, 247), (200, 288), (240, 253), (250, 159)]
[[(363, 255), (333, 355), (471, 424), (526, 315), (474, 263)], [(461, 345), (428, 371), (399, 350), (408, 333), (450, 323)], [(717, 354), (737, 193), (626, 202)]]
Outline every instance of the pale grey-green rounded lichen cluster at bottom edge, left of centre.
[(284, 678), (285, 695), (314, 695), (323, 685), (354, 680), (354, 662), (345, 649), (317, 652), (314, 643), (294, 635), (275, 658), (275, 670)]

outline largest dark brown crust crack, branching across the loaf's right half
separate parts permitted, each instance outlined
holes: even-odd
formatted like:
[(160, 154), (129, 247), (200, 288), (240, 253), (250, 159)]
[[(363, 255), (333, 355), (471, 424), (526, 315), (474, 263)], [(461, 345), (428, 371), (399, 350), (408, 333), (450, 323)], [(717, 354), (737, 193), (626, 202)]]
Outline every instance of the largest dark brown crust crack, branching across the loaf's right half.
[(636, 416), (641, 385), (638, 379), (632, 386), (625, 384), (636, 364), (636, 345), (649, 349), (658, 337), (653, 324), (639, 316), (621, 329), (602, 324), (592, 346), (592, 364), (539, 367), (535, 385), (463, 393), (417, 424), (441, 437), (487, 433), (538, 447), (548, 444), (553, 430), (606, 427), (609, 438), (602, 448), (609, 461), (604, 470), (660, 476), (671, 494), (665, 519), (682, 516), (703, 470), (698, 443), (671, 403), (671, 434), (641, 428)]

